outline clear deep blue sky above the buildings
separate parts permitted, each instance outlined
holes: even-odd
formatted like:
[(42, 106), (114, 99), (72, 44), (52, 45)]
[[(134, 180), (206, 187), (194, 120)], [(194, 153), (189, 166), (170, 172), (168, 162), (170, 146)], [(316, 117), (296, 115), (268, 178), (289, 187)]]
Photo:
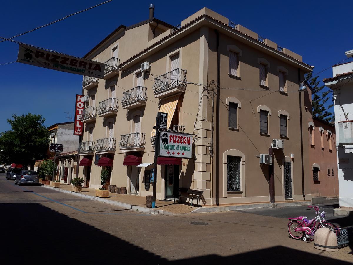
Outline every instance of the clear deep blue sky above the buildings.
[[(3, 1), (0, 36), (12, 37), (83, 10), (103, 0)], [(119, 1), (114, 0), (14, 40), (82, 57), (120, 24), (155, 17), (177, 25), (206, 6), (282, 47), (301, 54), (314, 73), (346, 59), (353, 49), (350, 1)], [(0, 64), (16, 61), (18, 45), (0, 43)], [(331, 68), (319, 79), (331, 77)], [(82, 90), (82, 76), (21, 63), (0, 65), (0, 132), (11, 129), (12, 114), (41, 114), (46, 126), (73, 117), (74, 98)], [(330, 102), (330, 100), (329, 100)]]

